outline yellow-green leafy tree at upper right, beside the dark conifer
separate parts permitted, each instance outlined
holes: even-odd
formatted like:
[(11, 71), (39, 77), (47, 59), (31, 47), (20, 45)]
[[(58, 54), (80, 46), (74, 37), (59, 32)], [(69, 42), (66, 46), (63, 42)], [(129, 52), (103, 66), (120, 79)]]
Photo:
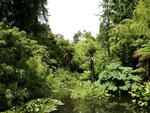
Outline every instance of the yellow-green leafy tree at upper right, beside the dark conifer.
[(137, 61), (132, 57), (134, 51), (149, 41), (149, 4), (148, 0), (140, 0), (133, 12), (133, 18), (125, 19), (111, 29), (109, 41), (112, 53), (124, 66), (135, 68)]

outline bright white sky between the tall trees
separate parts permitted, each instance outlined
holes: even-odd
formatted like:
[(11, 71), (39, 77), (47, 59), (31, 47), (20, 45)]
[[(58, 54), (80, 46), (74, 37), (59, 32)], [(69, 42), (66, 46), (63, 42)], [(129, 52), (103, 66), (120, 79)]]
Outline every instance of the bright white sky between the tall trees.
[(73, 40), (79, 30), (99, 32), (98, 7), (100, 0), (48, 0), (49, 25), (53, 34), (62, 34)]

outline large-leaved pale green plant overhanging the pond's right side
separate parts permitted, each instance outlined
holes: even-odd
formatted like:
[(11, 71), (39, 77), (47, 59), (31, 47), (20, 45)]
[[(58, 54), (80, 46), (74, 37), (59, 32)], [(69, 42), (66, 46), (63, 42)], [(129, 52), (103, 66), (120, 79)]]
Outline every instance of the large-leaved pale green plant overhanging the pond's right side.
[(134, 75), (131, 67), (122, 67), (120, 63), (111, 63), (99, 75), (101, 84), (114, 95), (124, 95), (140, 82), (140, 77)]

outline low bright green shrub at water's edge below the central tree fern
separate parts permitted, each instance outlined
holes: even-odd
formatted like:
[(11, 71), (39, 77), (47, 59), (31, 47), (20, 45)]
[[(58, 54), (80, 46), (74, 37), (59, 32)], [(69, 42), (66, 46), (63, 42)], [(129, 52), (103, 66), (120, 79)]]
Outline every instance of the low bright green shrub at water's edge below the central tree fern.
[(96, 82), (93, 84), (90, 81), (78, 82), (71, 94), (71, 98), (85, 100), (101, 99), (106, 96), (108, 95), (103, 85), (97, 84)]

